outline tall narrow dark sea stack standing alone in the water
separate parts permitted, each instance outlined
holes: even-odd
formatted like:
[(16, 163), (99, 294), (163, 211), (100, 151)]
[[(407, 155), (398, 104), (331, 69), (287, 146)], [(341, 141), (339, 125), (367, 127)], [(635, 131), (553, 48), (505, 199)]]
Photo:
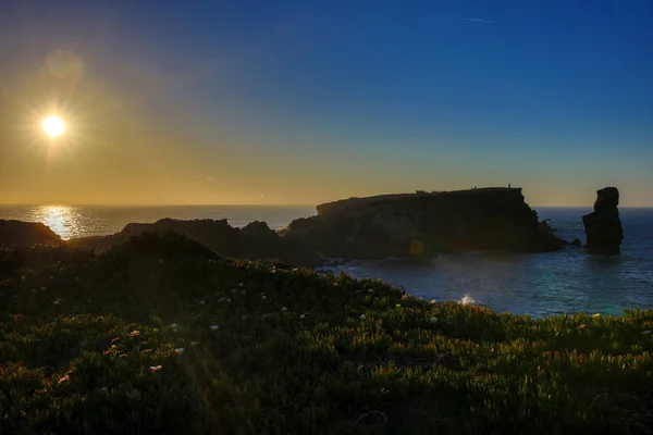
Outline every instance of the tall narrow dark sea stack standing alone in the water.
[(594, 212), (582, 216), (589, 249), (603, 253), (619, 252), (624, 229), (618, 204), (619, 190), (616, 187), (605, 187), (596, 191)]

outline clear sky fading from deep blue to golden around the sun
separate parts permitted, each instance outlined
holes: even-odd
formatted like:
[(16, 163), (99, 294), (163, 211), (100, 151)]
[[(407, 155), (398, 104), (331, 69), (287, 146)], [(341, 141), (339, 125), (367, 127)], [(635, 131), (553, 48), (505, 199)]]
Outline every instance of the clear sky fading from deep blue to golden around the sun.
[(0, 202), (653, 206), (650, 0), (2, 0), (0, 59)]

